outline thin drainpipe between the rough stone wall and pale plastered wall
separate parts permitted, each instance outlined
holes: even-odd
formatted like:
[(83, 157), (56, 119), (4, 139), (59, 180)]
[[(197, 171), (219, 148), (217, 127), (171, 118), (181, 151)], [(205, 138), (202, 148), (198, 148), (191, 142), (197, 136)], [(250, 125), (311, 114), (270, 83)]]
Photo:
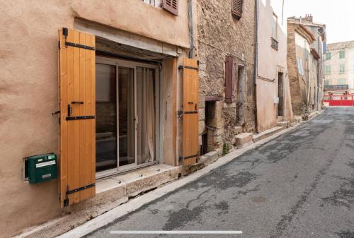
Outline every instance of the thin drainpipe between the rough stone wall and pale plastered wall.
[(254, 6), (255, 17), (255, 40), (254, 40), (254, 122), (256, 126), (256, 133), (258, 133), (258, 117), (257, 117), (257, 76), (258, 76), (258, 0), (255, 1)]

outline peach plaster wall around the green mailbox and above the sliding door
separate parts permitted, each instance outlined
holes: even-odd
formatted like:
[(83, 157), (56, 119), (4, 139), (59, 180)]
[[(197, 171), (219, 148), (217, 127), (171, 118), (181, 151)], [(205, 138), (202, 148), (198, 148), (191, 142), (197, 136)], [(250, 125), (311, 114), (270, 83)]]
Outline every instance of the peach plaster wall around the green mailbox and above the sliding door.
[(57, 181), (29, 185), (22, 166), (23, 157), (58, 152), (57, 30), (76, 17), (189, 47), (187, 1), (178, 17), (141, 0), (0, 2), (0, 237), (62, 213)]

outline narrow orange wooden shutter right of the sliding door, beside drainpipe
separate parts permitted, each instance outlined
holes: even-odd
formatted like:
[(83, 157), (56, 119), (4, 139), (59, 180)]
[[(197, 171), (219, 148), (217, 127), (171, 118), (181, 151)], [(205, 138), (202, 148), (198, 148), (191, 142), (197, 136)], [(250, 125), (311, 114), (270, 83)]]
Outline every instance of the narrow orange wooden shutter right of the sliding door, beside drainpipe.
[(183, 59), (183, 155), (182, 165), (192, 165), (199, 156), (198, 145), (198, 61)]

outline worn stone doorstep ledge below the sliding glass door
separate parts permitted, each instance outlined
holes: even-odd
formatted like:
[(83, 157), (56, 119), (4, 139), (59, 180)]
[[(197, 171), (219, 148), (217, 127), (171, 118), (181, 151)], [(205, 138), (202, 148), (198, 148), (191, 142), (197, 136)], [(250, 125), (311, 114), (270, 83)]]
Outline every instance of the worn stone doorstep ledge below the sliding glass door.
[(172, 182), (181, 176), (181, 166), (152, 165), (96, 181), (96, 196), (63, 209), (62, 215), (30, 227), (17, 237), (50, 238), (127, 203), (129, 198)]

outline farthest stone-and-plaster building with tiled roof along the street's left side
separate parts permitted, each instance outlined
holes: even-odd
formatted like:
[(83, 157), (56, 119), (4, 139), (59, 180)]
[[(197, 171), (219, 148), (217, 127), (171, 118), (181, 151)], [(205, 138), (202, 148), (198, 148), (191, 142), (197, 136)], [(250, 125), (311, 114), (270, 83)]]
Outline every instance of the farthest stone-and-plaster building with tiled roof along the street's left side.
[(306, 115), (321, 109), (323, 60), (326, 42), (324, 25), (312, 23), (312, 16), (287, 19), (287, 67), (292, 109)]

